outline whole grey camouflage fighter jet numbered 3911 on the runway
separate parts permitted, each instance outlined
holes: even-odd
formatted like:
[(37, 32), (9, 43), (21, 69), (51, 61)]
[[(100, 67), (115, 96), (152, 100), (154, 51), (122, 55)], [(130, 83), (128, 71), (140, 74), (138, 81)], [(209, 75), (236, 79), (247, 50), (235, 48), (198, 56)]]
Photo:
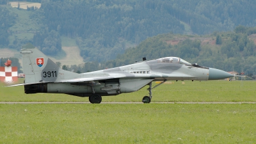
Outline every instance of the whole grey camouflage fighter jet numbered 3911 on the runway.
[[(142, 102), (150, 103), (152, 89), (168, 80), (207, 81), (234, 77), (216, 68), (191, 64), (177, 57), (146, 60), (122, 67), (77, 74), (63, 70), (34, 45), (22, 46), (25, 93), (65, 93), (89, 97), (92, 104), (99, 104), (102, 96), (135, 92), (148, 85), (148, 95)], [(152, 87), (153, 81), (162, 81)]]

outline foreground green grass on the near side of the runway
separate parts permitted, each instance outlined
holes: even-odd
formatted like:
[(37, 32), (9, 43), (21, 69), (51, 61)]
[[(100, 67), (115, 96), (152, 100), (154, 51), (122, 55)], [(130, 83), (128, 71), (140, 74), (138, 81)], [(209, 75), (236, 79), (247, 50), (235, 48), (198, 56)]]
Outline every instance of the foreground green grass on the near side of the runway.
[(255, 104), (0, 104), (0, 143), (255, 143)]

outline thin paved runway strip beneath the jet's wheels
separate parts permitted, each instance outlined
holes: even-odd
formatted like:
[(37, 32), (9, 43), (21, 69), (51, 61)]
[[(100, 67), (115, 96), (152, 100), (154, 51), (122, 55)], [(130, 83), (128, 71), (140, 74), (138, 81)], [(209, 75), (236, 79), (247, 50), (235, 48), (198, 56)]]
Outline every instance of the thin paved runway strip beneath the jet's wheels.
[[(0, 102), (0, 104), (91, 104), (90, 102)], [(143, 102), (101, 102), (100, 104), (143, 104)], [(256, 104), (256, 102), (150, 102), (150, 104)]]

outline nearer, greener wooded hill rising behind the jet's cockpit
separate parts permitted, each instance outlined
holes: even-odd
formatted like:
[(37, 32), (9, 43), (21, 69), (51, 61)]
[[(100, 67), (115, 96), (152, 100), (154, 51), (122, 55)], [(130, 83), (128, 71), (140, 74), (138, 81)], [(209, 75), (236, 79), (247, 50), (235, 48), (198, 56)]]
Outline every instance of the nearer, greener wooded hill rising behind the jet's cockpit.
[[(154, 60), (177, 56), (190, 63), (198, 63), (198, 65), (219, 68), (228, 72), (244, 72), (247, 76), (253, 76), (256, 74), (256, 45), (249, 38), (253, 34), (256, 34), (256, 28), (237, 26), (234, 32), (212, 33), (209, 37), (213, 37), (215, 43), (203, 45), (202, 36), (166, 33), (147, 38), (137, 47), (119, 54), (115, 60), (101, 63), (86, 62), (83, 65), (63, 65), (62, 67), (80, 73), (129, 65), (142, 61), (143, 57), (147, 60)], [(177, 45), (167, 44), (168, 40), (179, 36), (182, 38)]]

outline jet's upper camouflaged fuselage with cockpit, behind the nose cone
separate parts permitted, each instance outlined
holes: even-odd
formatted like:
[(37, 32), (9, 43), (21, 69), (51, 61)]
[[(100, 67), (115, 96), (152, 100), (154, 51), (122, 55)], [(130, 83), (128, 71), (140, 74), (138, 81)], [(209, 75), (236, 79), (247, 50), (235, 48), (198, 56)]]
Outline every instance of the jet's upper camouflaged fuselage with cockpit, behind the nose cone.
[(209, 68), (191, 65), (190, 63), (172, 63), (159, 60), (141, 61), (132, 65), (98, 70), (84, 73), (83, 77), (95, 76), (97, 74), (123, 74), (130, 79), (154, 79), (167, 80), (197, 80), (207, 81), (209, 79)]

